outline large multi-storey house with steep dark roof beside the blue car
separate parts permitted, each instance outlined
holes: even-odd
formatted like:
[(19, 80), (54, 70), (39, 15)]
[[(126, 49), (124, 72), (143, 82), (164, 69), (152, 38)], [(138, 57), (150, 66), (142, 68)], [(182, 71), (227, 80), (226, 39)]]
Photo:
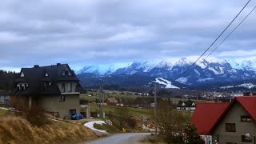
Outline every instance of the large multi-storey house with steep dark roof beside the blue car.
[(42, 107), (47, 112), (69, 118), (80, 112), (78, 82), (67, 64), (22, 68), (14, 81), (10, 102), (23, 109)]

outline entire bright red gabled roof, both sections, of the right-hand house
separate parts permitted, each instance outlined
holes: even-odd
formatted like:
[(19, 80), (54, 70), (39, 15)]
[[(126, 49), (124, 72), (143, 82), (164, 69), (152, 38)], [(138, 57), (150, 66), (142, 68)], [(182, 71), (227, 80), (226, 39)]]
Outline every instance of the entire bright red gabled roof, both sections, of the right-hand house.
[(210, 134), (236, 102), (256, 120), (256, 96), (235, 97), (230, 103), (198, 103), (191, 118), (198, 134)]

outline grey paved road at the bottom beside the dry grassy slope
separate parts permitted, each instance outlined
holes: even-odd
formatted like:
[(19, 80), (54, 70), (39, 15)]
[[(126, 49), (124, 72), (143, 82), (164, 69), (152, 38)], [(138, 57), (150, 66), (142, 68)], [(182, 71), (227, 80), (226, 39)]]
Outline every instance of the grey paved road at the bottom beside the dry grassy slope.
[(110, 137), (100, 138), (96, 141), (85, 142), (84, 144), (140, 144), (141, 138), (150, 133), (126, 133), (126, 134), (114, 134)]

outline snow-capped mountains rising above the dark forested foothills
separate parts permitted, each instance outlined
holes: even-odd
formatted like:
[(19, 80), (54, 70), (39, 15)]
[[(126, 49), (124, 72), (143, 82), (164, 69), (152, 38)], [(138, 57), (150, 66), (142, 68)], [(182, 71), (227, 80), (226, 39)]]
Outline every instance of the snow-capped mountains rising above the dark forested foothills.
[[(159, 78), (174, 80), (184, 73), (196, 58), (168, 58), (145, 62), (85, 66), (77, 74), (137, 74), (158, 78), (156, 81), (161, 81)], [(241, 82), (249, 79), (256, 79), (256, 58), (222, 59), (210, 57), (200, 59), (181, 78), (178, 78), (176, 82), (193, 86), (213, 82)]]

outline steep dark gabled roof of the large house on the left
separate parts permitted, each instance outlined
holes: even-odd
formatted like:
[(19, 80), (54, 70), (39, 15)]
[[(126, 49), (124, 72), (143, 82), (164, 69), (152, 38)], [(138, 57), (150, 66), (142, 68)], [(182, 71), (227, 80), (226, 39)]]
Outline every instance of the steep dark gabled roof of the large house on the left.
[[(32, 68), (22, 68), (21, 73), (25, 77), (15, 79), (15, 86), (19, 82), (26, 82), (28, 87), (25, 90), (18, 90), (14, 87), (11, 94), (14, 95), (27, 95), (27, 94), (60, 94), (58, 86), (54, 86), (57, 82), (78, 82), (76, 74), (70, 70), (72, 75), (62, 75), (65, 70), (70, 70), (67, 64), (57, 64), (52, 66), (34, 66)], [(47, 74), (47, 76), (46, 76)], [(45, 86), (46, 83), (52, 82), (51, 86)], [(80, 84), (78, 83), (78, 86)]]

